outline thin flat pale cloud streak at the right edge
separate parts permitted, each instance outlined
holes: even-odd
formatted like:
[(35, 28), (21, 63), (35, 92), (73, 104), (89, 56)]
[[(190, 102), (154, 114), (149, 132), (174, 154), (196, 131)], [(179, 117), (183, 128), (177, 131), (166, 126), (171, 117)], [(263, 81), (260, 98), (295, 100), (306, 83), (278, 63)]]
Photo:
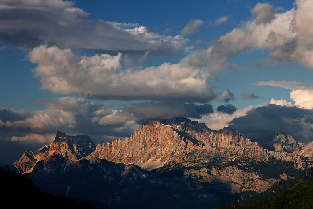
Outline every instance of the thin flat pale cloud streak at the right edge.
[(253, 85), (263, 86), (277, 86), (286, 89), (309, 89), (313, 90), (312, 83), (304, 83), (304, 82), (297, 82), (297, 81), (259, 81), (257, 83), (252, 83)]

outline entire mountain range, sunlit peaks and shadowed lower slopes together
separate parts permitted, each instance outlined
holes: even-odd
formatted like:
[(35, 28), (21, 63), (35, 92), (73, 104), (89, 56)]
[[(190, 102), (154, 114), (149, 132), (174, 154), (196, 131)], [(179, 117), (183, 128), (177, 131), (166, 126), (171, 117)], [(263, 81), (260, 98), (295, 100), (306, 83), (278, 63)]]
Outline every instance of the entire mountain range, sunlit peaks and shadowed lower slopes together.
[(131, 137), (97, 145), (57, 132), (12, 166), (41, 191), (110, 207), (217, 207), (238, 202), (313, 167), (313, 143), (288, 133), (260, 141), (187, 118), (149, 119)]

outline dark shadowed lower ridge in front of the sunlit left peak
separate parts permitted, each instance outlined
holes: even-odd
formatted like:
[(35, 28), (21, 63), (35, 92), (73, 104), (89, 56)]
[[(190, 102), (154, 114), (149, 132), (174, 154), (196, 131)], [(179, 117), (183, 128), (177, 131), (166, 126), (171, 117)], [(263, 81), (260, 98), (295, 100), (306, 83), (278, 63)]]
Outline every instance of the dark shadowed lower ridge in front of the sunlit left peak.
[[(151, 175), (136, 165), (90, 157), (73, 161), (53, 153), (38, 161), (25, 178), (47, 193), (71, 199), (102, 202), (119, 199), (135, 182)], [(113, 200), (111, 200), (113, 199)]]

